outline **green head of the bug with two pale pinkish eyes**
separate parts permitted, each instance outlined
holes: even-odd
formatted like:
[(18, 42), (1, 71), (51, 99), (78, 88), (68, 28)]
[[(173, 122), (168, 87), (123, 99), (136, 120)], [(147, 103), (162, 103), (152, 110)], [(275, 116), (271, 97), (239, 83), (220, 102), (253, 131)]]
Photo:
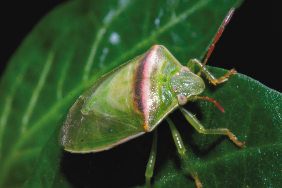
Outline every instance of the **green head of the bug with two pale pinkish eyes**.
[(170, 77), (170, 88), (178, 98), (178, 103), (184, 105), (195, 95), (204, 91), (205, 84), (201, 77), (197, 76), (186, 66)]

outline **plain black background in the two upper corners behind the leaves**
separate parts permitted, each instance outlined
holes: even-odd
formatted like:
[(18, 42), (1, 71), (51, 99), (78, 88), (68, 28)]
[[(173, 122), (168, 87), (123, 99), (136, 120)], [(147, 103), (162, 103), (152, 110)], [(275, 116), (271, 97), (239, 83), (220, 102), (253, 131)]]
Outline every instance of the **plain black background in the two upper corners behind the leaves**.
[[(2, 59), (0, 74), (24, 37), (58, 1), (9, 1), (2, 5)], [(277, 2), (277, 1), (276, 1)], [(245, 1), (226, 27), (208, 65), (235, 69), (282, 92), (282, 16), (274, 1)], [(254, 4), (255, 3), (255, 4)]]

